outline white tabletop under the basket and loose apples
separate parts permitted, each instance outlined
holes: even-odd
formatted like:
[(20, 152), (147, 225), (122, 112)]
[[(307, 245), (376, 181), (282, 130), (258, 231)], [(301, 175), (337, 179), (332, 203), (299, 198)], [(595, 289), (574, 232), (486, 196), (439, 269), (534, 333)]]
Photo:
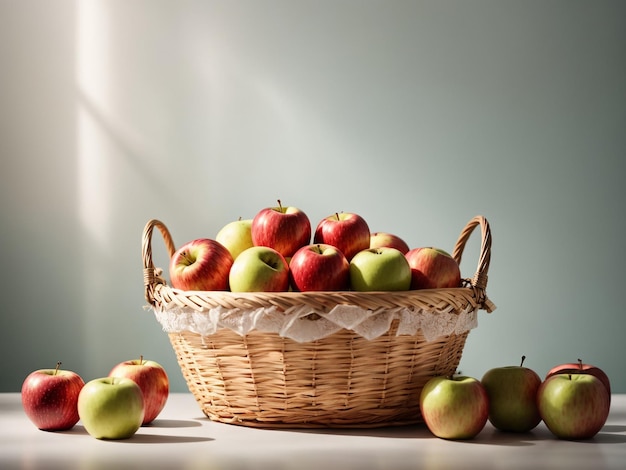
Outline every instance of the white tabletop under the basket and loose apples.
[(209, 421), (191, 394), (171, 394), (161, 415), (131, 439), (100, 441), (80, 422), (38, 430), (18, 393), (0, 394), (0, 469), (366, 470), (626, 468), (626, 395), (614, 395), (595, 438), (554, 438), (541, 423), (526, 434), (489, 423), (471, 441), (433, 437), (424, 425), (380, 429), (266, 430)]

